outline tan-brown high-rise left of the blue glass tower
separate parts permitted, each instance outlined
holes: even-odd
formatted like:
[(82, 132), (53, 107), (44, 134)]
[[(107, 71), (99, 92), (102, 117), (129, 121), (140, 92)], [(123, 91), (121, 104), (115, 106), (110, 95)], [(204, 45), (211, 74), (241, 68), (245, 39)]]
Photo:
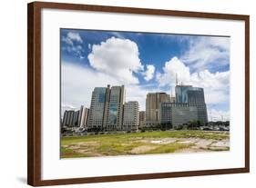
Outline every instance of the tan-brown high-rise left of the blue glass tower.
[(159, 124), (159, 104), (169, 102), (169, 94), (149, 93), (146, 99), (146, 125)]

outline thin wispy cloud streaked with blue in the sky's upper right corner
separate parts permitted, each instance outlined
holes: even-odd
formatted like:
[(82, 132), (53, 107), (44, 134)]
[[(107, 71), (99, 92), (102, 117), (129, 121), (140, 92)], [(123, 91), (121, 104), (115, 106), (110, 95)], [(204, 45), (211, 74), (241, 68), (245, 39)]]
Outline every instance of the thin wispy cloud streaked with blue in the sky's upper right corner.
[(194, 70), (201, 71), (206, 68), (230, 63), (229, 37), (202, 37), (189, 41), (189, 50), (180, 57), (180, 60)]

